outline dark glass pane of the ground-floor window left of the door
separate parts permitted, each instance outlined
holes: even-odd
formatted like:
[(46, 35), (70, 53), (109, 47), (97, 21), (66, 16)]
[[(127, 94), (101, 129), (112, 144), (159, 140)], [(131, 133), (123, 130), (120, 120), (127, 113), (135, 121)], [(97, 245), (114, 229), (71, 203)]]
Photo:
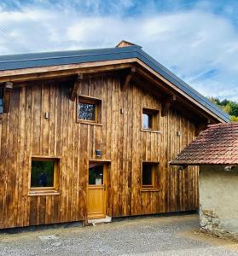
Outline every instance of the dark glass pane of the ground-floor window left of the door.
[(31, 187), (54, 187), (54, 169), (54, 160), (32, 160)]

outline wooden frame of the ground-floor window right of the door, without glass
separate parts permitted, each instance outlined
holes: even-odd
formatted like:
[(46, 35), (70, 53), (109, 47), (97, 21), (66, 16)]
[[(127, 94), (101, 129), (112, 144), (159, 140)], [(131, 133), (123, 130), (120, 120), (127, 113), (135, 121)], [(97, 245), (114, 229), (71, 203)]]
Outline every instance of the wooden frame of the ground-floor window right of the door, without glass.
[[(152, 184), (150, 185), (143, 185), (143, 166), (150, 165), (152, 167)], [(152, 162), (152, 161), (142, 161), (142, 171), (141, 171), (141, 190), (142, 191), (159, 191), (158, 184), (159, 184), (159, 162)]]

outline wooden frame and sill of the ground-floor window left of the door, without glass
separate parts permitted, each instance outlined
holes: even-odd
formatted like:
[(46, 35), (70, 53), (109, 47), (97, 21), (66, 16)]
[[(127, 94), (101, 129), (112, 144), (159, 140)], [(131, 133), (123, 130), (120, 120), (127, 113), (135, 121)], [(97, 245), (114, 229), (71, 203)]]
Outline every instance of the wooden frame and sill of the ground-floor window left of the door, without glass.
[[(32, 161), (54, 161), (54, 185), (52, 187), (32, 187)], [(59, 157), (32, 156), (30, 165), (29, 195), (59, 195)]]

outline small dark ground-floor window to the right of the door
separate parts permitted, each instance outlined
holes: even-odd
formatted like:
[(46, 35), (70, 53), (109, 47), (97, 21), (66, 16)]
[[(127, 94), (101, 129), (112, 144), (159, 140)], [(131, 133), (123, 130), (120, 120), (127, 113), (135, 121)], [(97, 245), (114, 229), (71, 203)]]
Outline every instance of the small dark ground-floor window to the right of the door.
[(142, 189), (154, 189), (157, 179), (158, 164), (142, 163)]

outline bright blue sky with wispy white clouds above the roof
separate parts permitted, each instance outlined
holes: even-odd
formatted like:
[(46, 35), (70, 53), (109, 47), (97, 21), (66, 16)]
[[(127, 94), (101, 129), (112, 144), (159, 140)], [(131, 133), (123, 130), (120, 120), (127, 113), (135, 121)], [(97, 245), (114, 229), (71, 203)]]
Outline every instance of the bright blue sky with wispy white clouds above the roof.
[(237, 0), (1, 0), (0, 55), (142, 46), (204, 96), (238, 101)]

